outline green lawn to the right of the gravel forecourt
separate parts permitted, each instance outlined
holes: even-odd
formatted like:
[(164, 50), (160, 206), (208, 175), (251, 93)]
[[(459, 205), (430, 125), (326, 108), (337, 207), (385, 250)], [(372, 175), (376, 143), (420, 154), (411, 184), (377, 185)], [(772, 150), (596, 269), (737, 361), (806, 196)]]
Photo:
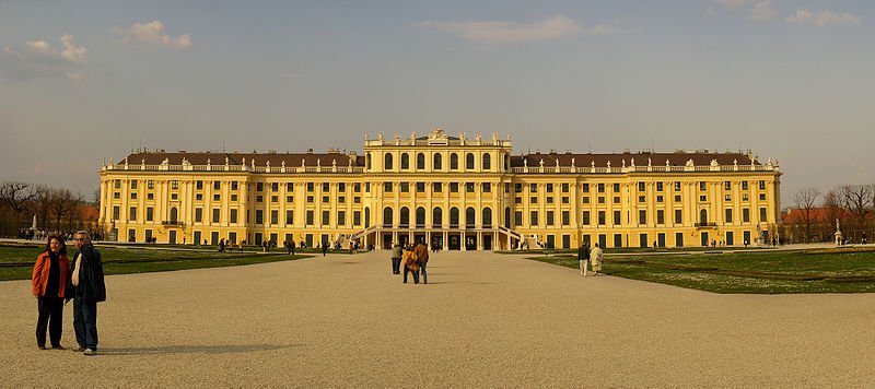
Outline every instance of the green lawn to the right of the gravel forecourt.
[[(875, 248), (796, 251), (674, 252), (611, 258), (606, 274), (715, 293), (867, 293), (875, 292)], [(576, 256), (540, 255), (528, 259), (580, 268)]]

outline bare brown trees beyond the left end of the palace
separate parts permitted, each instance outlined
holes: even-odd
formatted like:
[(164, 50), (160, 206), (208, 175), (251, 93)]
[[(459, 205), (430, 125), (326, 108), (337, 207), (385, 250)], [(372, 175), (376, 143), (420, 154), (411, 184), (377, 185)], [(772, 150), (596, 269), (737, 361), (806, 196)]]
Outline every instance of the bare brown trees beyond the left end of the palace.
[(0, 182), (0, 235), (18, 236), (31, 229), (34, 215), (40, 231), (69, 232), (89, 227), (90, 204), (80, 193), (19, 181)]

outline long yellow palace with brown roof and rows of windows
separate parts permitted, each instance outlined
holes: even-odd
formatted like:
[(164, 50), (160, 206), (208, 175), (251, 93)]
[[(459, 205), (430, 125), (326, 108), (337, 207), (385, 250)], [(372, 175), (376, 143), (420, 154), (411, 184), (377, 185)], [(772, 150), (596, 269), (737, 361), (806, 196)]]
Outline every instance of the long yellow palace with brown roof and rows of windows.
[(440, 249), (743, 246), (780, 221), (780, 169), (750, 153), (513, 154), (434, 129), (364, 153), (139, 150), (101, 168), (110, 239)]

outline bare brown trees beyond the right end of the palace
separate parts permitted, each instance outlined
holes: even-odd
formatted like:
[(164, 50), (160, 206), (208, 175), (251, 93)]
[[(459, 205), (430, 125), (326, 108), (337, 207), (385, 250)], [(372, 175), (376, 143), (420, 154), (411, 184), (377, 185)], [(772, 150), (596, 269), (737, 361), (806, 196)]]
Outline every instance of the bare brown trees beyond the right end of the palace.
[(794, 236), (805, 243), (831, 241), (836, 233), (836, 220), (840, 221), (845, 238), (855, 243), (864, 236), (872, 239), (875, 229), (875, 184), (840, 185), (826, 193), (817, 188), (803, 188), (794, 193), (793, 205), (800, 210), (798, 217), (789, 221), (784, 228), (793, 228), (796, 233)]

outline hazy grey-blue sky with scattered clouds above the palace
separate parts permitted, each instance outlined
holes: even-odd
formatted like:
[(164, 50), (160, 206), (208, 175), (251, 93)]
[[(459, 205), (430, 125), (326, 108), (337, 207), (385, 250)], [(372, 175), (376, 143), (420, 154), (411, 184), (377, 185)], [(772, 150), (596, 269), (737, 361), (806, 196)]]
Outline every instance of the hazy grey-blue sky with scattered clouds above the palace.
[(132, 149), (751, 150), (782, 207), (874, 184), (875, 2), (0, 0), (0, 180)]

